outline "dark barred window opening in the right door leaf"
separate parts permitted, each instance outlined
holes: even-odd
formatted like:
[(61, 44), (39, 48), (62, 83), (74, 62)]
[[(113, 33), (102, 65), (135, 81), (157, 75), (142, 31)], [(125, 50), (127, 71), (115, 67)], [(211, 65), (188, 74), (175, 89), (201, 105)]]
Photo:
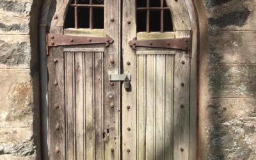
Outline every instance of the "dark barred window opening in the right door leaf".
[(173, 31), (172, 15), (166, 0), (137, 0), (137, 32)]

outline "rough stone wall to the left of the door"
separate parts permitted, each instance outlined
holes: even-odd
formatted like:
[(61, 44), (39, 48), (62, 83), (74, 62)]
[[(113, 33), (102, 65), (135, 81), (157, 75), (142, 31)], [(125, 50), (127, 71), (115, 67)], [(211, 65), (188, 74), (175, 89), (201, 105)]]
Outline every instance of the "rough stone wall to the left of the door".
[(0, 159), (40, 159), (39, 3), (0, 0)]

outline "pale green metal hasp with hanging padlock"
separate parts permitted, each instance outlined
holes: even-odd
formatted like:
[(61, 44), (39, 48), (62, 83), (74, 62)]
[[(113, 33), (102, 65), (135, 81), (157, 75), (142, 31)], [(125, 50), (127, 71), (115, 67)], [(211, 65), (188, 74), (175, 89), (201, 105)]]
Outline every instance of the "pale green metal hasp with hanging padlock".
[(125, 90), (131, 88), (131, 74), (110, 74), (109, 81), (124, 81)]

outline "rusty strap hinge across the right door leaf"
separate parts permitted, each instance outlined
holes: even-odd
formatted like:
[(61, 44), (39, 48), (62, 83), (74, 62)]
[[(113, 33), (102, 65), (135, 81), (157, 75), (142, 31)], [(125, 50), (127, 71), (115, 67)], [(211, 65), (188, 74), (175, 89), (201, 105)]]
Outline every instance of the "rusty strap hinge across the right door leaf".
[[(163, 48), (163, 49), (179, 49), (182, 51), (191, 51), (191, 37), (189, 38), (172, 38), (162, 40), (136, 40), (133, 38), (129, 42), (132, 49), (137, 47), (151, 47), (151, 48)], [(190, 56), (190, 54), (189, 54)]]

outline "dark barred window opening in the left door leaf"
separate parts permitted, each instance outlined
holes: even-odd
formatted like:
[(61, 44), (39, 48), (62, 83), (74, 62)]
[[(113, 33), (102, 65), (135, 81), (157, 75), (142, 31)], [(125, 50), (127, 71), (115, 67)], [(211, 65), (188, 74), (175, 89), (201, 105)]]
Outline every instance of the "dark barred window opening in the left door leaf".
[(64, 28), (104, 28), (104, 0), (73, 0)]

